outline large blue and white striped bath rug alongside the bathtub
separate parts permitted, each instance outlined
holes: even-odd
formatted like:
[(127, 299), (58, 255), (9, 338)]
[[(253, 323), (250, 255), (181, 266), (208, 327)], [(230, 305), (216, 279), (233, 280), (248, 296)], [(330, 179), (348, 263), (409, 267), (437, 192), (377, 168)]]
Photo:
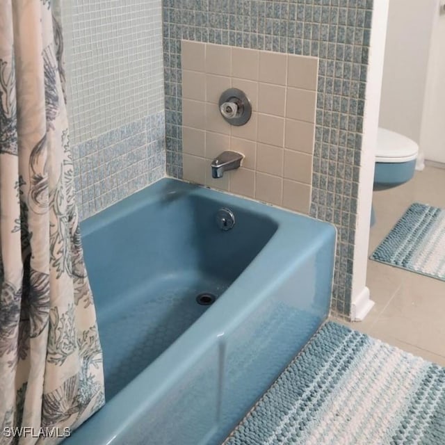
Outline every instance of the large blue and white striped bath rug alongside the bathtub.
[(445, 368), (327, 322), (224, 445), (445, 444)]

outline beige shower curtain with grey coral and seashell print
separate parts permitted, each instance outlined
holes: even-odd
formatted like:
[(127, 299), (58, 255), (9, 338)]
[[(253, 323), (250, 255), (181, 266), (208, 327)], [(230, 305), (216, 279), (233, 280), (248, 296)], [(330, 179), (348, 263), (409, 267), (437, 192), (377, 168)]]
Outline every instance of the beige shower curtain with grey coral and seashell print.
[(58, 443), (104, 404), (56, 3), (0, 0), (1, 445)]

